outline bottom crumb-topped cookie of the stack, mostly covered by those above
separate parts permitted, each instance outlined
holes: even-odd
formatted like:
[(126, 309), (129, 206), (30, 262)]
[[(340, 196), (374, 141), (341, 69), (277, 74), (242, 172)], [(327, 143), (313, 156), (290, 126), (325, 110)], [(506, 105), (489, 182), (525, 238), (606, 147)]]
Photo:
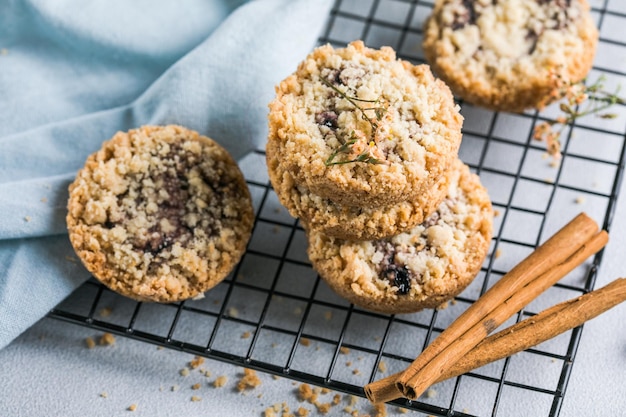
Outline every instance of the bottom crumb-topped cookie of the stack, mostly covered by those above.
[(437, 307), (469, 285), (489, 250), (492, 224), (487, 191), (462, 165), (444, 201), (410, 232), (353, 242), (308, 231), (308, 254), (348, 301), (381, 313), (410, 313)]

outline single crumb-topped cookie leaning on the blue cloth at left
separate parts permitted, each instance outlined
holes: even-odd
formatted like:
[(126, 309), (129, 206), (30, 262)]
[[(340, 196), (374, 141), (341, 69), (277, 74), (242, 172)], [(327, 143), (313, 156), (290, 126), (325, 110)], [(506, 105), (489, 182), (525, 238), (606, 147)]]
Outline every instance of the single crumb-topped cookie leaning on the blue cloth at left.
[(180, 126), (118, 132), (69, 187), (67, 227), (85, 267), (140, 301), (218, 284), (243, 254), (254, 213), (228, 152)]

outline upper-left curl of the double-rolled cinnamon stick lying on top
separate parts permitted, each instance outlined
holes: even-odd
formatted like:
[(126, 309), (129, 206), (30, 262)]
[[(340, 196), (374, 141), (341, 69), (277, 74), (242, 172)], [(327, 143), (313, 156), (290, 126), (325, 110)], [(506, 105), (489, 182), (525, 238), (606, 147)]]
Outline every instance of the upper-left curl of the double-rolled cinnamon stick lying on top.
[[(491, 289), (472, 304), (415, 359), (411, 367), (398, 379), (403, 389), (413, 374), (429, 363), (448, 345), (458, 339), (467, 329), (502, 304), (513, 293), (563, 262), (598, 231), (597, 224), (581, 213), (560, 229), (554, 236), (504, 275)], [(405, 393), (406, 395), (407, 393)], [(410, 393), (409, 393), (410, 394)], [(410, 397), (409, 397), (410, 398)]]

